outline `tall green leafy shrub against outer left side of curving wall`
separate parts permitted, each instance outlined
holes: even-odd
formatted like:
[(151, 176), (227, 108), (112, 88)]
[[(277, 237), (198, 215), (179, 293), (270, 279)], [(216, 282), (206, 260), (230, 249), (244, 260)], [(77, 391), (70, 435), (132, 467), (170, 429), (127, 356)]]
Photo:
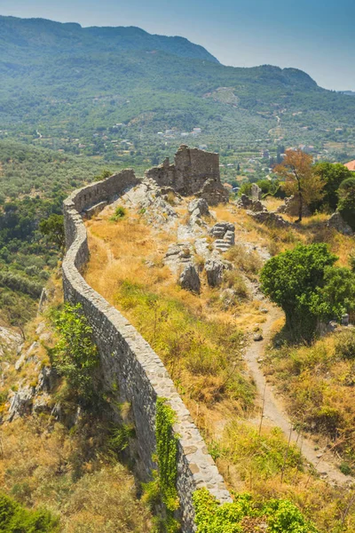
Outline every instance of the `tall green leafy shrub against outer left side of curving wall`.
[(66, 304), (54, 317), (59, 340), (51, 350), (51, 356), (53, 365), (67, 379), (71, 390), (84, 400), (91, 400), (99, 351), (93, 343), (91, 326), (80, 311), (80, 304)]

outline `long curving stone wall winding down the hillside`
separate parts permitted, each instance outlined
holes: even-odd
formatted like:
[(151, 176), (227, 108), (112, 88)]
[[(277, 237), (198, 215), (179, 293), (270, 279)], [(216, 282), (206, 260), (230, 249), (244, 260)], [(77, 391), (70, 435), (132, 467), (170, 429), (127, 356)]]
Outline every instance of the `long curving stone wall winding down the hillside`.
[(104, 206), (137, 184), (133, 171), (123, 171), (75, 191), (64, 202), (67, 242), (62, 266), (64, 295), (67, 301), (82, 305), (91, 324), (99, 346), (103, 386), (106, 390), (118, 391), (115, 393), (118, 401), (130, 402), (143, 478), (147, 479), (155, 466), (152, 454), (155, 451), (156, 399), (166, 398), (177, 413), (174, 426), (178, 435), (177, 493), (183, 531), (191, 533), (194, 530), (193, 491), (206, 487), (221, 502), (231, 501), (229, 492), (158, 355), (121, 313), (91, 289), (81, 274), (89, 259), (82, 214), (91, 212), (100, 203)]

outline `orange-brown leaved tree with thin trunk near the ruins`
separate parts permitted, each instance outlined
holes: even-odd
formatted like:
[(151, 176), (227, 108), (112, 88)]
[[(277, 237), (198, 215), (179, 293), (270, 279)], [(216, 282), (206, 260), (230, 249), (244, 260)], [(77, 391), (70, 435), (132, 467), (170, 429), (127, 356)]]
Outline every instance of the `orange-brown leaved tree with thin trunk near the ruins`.
[(312, 173), (312, 155), (302, 150), (288, 150), (282, 161), (274, 171), (285, 179), (284, 188), (288, 195), (295, 195), (298, 199), (298, 219), (303, 217), (304, 204), (310, 205), (323, 196), (323, 181)]

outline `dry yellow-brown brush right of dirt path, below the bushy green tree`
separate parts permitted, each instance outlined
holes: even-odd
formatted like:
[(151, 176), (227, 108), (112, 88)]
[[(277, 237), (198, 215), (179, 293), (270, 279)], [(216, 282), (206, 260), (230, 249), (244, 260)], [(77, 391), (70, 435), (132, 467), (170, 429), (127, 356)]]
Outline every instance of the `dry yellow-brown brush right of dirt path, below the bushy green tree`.
[(345, 330), (312, 346), (273, 348), (265, 362), (293, 419), (306, 431), (323, 435), (323, 442), (342, 454), (351, 472), (355, 466), (354, 346), (354, 332)]

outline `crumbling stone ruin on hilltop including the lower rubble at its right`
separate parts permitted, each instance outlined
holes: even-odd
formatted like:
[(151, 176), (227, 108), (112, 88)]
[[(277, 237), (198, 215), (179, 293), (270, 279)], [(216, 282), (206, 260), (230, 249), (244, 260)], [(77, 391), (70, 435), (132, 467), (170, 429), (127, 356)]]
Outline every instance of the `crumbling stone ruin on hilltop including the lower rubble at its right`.
[(219, 174), (219, 155), (182, 145), (170, 164), (164, 163), (146, 171), (146, 178), (154, 179), (159, 187), (172, 187), (184, 196), (195, 195), (209, 203), (227, 203), (229, 193)]

